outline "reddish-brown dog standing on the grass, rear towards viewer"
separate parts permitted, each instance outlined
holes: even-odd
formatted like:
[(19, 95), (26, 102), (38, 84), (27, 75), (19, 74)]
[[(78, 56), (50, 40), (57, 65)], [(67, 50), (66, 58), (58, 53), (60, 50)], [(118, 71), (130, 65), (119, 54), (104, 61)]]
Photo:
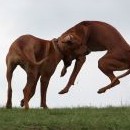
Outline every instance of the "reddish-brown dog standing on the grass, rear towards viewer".
[(27, 83), (23, 90), (24, 99), (21, 106), (29, 108), (29, 100), (35, 93), (37, 81), (41, 82), (41, 107), (47, 108), (46, 91), (49, 80), (56, 66), (62, 59), (59, 47), (55, 40), (48, 41), (31, 35), (19, 37), (10, 47), (6, 57), (8, 98), (6, 107), (12, 107), (11, 80), (14, 69), (20, 65), (27, 73)]

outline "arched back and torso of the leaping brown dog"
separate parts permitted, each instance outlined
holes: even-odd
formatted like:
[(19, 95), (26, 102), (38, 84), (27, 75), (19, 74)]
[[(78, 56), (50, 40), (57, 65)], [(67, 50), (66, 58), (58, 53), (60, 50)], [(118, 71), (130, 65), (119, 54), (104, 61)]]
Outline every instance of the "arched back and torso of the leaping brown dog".
[(128, 49), (129, 45), (112, 25), (100, 21), (82, 21), (61, 35), (62, 39), (68, 34), (86, 37), (86, 44), (91, 51), (104, 51), (111, 49)]

